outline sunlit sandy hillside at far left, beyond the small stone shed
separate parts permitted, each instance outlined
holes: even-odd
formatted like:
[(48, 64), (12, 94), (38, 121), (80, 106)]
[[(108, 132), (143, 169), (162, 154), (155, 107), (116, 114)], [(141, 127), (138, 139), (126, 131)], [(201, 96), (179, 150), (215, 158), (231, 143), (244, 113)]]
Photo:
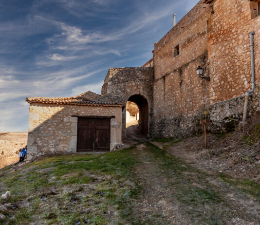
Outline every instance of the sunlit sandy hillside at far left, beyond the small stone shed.
[(19, 161), (17, 151), (27, 145), (27, 132), (0, 132), (0, 169)]

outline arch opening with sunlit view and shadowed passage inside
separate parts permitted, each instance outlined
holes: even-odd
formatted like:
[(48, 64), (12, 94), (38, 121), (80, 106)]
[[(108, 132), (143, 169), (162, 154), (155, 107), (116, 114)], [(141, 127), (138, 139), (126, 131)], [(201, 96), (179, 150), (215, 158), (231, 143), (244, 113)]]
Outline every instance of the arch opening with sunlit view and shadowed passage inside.
[(127, 100), (126, 134), (142, 134), (149, 132), (149, 105), (142, 95), (134, 94)]

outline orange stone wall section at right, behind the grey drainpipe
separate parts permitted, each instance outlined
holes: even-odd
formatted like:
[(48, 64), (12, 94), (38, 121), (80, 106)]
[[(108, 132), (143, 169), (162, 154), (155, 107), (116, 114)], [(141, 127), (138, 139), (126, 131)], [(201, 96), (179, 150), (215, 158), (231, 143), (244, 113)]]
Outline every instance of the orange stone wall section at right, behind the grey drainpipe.
[(216, 0), (208, 21), (210, 103), (237, 97), (251, 88), (249, 34), (255, 31), (256, 84), (260, 84), (260, 17), (251, 19), (247, 0)]

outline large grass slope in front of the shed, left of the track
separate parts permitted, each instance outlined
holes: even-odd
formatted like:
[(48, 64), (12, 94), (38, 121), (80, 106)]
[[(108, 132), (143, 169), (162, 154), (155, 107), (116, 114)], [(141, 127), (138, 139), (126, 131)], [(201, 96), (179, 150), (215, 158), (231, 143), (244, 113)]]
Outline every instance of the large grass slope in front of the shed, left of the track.
[(133, 148), (48, 157), (17, 171), (0, 170), (0, 193), (10, 190), (8, 202), (22, 206), (8, 212), (4, 222), (105, 225), (112, 214), (124, 224), (132, 213), (130, 198), (139, 192), (131, 172)]

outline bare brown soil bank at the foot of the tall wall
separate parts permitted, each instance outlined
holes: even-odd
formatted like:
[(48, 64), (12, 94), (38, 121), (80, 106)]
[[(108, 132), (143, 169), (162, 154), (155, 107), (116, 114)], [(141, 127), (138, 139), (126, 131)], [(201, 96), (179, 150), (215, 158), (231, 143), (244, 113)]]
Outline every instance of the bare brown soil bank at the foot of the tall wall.
[(204, 147), (204, 135), (189, 137), (178, 143), (175, 143), (176, 140), (152, 143), (204, 171), (221, 171), (232, 177), (246, 177), (260, 183), (259, 142), (248, 146), (241, 142), (242, 136), (241, 132), (229, 133), (225, 137), (207, 134), (207, 149)]

